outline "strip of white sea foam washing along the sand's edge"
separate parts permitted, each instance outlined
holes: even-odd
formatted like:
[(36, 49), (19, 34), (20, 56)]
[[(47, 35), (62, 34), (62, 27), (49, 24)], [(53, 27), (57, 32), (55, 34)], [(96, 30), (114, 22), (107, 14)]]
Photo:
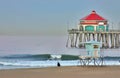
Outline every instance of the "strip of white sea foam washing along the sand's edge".
[[(57, 66), (57, 62), (61, 64), (61, 66), (78, 66), (81, 65), (79, 60), (71, 60), (71, 61), (57, 61), (57, 60), (47, 60), (47, 61), (17, 61), (17, 62), (0, 62), (0, 64), (4, 66), (12, 66), (13, 68), (24, 68), (24, 67), (55, 67)], [(93, 63), (90, 63), (93, 65)], [(104, 61), (104, 65), (120, 65), (119, 61)], [(0, 68), (3, 69), (3, 68)]]

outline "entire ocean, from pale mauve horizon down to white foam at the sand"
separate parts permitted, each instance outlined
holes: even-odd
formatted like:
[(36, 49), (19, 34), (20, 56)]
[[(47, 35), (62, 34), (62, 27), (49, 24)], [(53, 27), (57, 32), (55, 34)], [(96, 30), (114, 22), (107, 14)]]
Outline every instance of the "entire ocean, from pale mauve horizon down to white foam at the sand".
[[(0, 70), (80, 65), (77, 56), (86, 55), (85, 49), (66, 47), (66, 41), (67, 36), (0, 36)], [(105, 65), (120, 65), (120, 48), (101, 52)]]

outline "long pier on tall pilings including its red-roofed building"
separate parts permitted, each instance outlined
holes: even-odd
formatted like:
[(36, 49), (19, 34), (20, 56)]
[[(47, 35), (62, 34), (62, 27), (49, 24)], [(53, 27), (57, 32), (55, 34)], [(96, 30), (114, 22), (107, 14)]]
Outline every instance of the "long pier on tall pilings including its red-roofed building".
[(93, 10), (89, 15), (80, 19), (77, 28), (68, 30), (66, 47), (85, 48), (82, 43), (88, 41), (101, 42), (101, 48), (119, 48), (120, 29), (111, 30), (108, 20)]

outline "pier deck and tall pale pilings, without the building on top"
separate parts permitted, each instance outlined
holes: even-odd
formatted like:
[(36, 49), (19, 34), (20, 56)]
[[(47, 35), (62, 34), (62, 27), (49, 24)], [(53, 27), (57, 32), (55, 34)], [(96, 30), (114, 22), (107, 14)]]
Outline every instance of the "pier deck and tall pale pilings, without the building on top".
[(68, 30), (68, 40), (66, 47), (85, 48), (82, 42), (87, 41), (102, 42), (101, 48), (119, 48), (120, 30), (110, 31), (81, 31), (78, 29)]

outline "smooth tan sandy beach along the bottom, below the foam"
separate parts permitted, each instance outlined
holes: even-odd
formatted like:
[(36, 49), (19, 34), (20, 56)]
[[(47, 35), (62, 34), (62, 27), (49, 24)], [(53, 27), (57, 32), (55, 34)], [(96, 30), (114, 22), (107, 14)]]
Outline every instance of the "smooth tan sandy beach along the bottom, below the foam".
[(120, 78), (120, 66), (0, 70), (0, 78)]

